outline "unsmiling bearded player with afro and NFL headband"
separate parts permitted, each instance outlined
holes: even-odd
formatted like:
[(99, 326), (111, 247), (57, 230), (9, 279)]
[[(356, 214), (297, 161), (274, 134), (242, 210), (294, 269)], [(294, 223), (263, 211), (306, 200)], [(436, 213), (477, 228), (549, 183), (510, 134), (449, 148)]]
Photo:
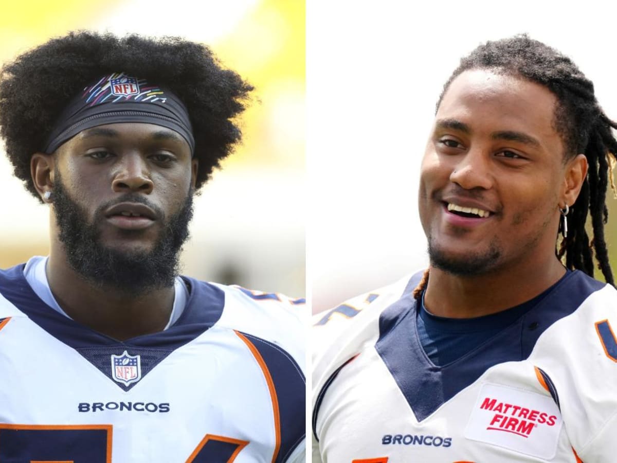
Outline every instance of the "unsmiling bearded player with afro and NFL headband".
[(71, 33), (2, 68), (51, 252), (0, 271), (0, 461), (304, 461), (302, 300), (178, 275), (251, 91), (180, 38)]

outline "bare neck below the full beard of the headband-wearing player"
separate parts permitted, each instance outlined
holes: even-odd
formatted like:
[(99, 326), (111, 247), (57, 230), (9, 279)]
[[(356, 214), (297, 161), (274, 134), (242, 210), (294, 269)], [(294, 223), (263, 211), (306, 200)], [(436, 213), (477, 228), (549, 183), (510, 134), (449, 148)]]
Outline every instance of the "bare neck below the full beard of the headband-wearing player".
[(52, 244), (46, 267), (49, 288), (62, 310), (78, 323), (117, 340), (162, 331), (169, 321), (173, 286), (128, 294), (85, 280)]

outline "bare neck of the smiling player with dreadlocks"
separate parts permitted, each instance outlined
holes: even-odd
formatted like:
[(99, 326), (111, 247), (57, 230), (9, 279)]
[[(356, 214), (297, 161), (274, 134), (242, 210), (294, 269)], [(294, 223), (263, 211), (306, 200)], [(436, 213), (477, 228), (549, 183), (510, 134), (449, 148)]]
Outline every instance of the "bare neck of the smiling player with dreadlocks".
[(481, 317), (518, 306), (547, 290), (566, 270), (552, 256), (544, 265), (524, 265), (462, 277), (429, 267), (424, 304), (439, 317)]

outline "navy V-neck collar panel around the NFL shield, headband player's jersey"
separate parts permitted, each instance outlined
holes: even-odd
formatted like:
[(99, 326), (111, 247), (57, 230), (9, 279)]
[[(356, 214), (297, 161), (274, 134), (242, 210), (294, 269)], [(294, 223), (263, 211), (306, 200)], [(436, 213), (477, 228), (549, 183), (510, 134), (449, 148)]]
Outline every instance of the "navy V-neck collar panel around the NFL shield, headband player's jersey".
[(41, 301), (23, 276), (24, 265), (0, 270), (0, 293), (28, 318), (62, 343), (75, 349), (86, 360), (125, 391), (128, 386), (112, 378), (111, 355), (141, 356), (141, 378), (175, 349), (193, 341), (220, 319), (225, 305), (225, 293), (217, 286), (182, 277), (189, 288), (189, 298), (180, 318), (167, 330), (151, 335), (118, 341), (95, 332), (75, 320), (59, 314)]

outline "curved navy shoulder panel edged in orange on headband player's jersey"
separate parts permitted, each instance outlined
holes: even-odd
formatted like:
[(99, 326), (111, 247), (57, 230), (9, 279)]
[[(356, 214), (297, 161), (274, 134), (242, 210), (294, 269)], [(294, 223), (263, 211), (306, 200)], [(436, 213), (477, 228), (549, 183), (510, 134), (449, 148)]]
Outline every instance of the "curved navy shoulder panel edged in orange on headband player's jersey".
[(288, 352), (276, 344), (242, 333), (259, 351), (274, 383), (280, 417), (281, 446), (275, 463), (288, 459), (304, 440), (306, 387), (304, 373)]

